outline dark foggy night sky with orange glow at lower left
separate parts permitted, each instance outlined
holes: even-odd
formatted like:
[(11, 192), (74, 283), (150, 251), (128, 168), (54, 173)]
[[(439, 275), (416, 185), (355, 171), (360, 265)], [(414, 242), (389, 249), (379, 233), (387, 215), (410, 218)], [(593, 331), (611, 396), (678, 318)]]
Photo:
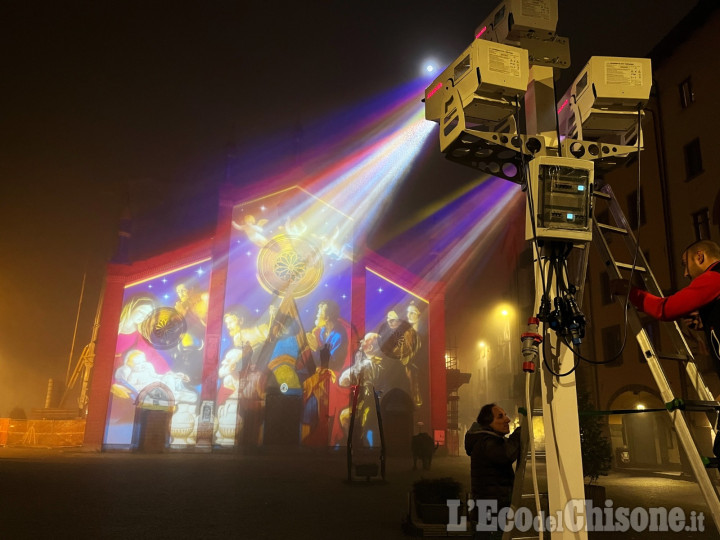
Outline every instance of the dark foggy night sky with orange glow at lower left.
[[(297, 126), (416, 78), (429, 57), (444, 68), (497, 3), (3, 2), (0, 416), (62, 384), (85, 271), (74, 359), (88, 342), (126, 204), (136, 258), (209, 234), (228, 144), (272, 158)], [(695, 4), (559, 3), (572, 67), (558, 95), (591, 55), (646, 55)], [(398, 219), (476, 176), (438, 149), (436, 130)]]

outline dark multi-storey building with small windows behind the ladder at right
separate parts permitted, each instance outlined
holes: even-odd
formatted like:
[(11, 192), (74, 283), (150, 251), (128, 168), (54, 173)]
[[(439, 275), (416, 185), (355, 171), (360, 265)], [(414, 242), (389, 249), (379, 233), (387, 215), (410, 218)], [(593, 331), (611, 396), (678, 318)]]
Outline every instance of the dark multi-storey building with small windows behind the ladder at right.
[[(643, 118), (644, 151), (639, 159), (603, 179), (639, 235), (643, 253), (666, 295), (688, 283), (680, 262), (685, 248), (696, 240), (720, 240), (720, 158), (713, 151), (720, 115), (716, 108), (720, 65), (711, 54), (718, 30), (717, 4), (702, 1), (653, 49), (649, 55), (653, 91)], [(609, 223), (601, 204), (596, 216)], [(631, 262), (627, 257), (619, 260)], [(585, 309), (592, 322), (591, 347), (598, 360), (610, 360), (621, 350), (625, 328), (622, 309), (610, 295), (608, 276), (596, 253), (591, 255), (588, 283)], [(660, 325), (650, 318), (644, 323), (656, 349), (662, 352), (665, 338)], [(710, 390), (719, 394), (720, 379), (704, 336), (684, 327), (683, 333)], [(663, 360), (662, 365), (674, 393), (693, 398), (682, 363)], [(664, 408), (632, 332), (619, 358), (604, 366), (583, 366), (581, 380), (594, 394), (599, 409)], [(704, 415), (690, 418), (699, 448), (708, 455), (708, 421)], [(681, 465), (682, 452), (667, 414), (611, 415), (609, 431), (618, 466)], [(648, 445), (649, 440), (654, 444)]]

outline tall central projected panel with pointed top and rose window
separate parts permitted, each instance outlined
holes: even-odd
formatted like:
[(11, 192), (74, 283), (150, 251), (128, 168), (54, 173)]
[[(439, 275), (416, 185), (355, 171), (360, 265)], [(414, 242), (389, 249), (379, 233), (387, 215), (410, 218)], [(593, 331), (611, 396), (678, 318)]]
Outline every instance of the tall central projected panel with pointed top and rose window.
[(291, 188), (236, 205), (232, 227), (214, 444), (343, 444), (352, 220)]

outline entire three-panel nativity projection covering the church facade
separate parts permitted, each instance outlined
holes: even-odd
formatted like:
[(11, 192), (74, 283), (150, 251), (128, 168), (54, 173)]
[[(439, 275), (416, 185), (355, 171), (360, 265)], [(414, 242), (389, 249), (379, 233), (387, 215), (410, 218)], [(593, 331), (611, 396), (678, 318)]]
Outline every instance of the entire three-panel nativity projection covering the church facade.
[[(355, 385), (403, 410), (385, 431), (409, 445), (431, 423), (428, 302), (355, 262), (353, 220), (302, 188), (247, 198), (229, 218), (215, 261), (173, 269), (168, 254), (127, 270), (103, 447), (345, 445)], [(211, 295), (213, 263), (227, 274)], [(199, 421), (208, 400), (214, 417)], [(355, 440), (377, 447), (372, 401), (360, 399)]]

